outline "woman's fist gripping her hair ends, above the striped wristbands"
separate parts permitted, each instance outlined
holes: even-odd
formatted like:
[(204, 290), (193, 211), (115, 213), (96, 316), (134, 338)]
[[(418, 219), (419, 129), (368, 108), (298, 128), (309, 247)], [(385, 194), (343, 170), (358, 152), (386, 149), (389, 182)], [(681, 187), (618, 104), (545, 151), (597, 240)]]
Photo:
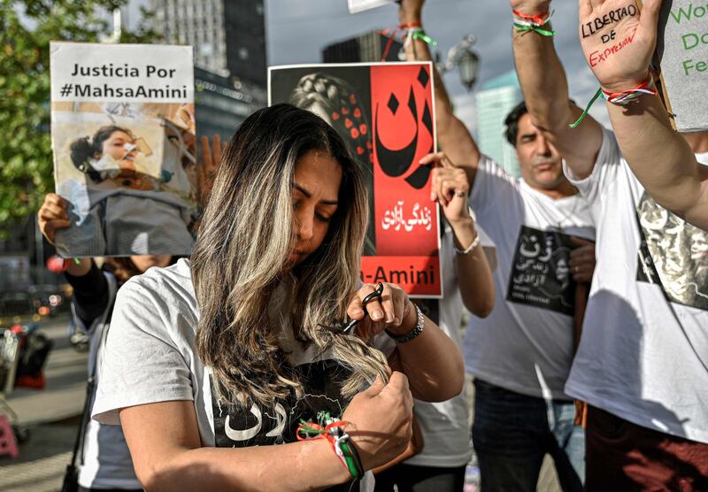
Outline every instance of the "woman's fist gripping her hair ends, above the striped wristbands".
[(412, 437), (413, 397), (404, 373), (391, 374), (389, 384), (376, 378), (358, 393), (344, 411), (344, 428), (356, 446), (362, 464), (371, 470), (404, 452)]

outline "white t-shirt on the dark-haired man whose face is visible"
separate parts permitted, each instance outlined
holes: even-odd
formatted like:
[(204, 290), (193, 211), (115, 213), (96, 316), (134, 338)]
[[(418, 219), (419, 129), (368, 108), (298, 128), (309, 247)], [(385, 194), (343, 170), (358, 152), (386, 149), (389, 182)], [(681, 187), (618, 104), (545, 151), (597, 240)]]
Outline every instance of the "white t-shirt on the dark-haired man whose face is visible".
[(566, 399), (574, 303), (567, 234), (595, 238), (589, 207), (577, 195), (543, 195), (485, 156), (470, 204), (495, 243), (498, 266), (494, 309), (485, 319), (470, 317), (466, 370), (523, 395)]

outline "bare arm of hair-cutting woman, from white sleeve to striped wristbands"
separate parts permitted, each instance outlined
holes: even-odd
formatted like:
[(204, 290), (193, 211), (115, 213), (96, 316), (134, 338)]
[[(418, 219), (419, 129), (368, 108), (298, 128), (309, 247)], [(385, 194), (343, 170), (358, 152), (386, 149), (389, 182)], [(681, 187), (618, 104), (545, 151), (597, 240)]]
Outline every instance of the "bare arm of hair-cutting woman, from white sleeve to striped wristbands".
[(135, 473), (146, 491), (316, 490), (349, 473), (327, 440), (249, 448), (203, 448), (194, 404), (163, 402), (120, 411)]

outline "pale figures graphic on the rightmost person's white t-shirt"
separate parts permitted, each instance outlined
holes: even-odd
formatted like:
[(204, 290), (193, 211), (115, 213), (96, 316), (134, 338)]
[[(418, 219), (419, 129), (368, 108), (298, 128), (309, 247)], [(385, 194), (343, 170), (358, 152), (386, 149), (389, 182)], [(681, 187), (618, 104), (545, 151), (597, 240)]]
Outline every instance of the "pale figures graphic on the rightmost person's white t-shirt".
[(673, 303), (708, 310), (708, 232), (667, 211), (646, 191), (636, 213), (642, 233), (636, 280), (658, 285)]

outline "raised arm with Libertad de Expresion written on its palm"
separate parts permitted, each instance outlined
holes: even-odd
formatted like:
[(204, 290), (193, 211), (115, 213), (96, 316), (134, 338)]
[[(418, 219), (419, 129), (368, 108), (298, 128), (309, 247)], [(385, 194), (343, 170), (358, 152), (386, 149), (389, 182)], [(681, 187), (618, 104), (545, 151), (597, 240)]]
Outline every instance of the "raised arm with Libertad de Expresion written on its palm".
[[(608, 93), (622, 93), (648, 81), (660, 8), (661, 0), (646, 0), (641, 12), (634, 0), (580, 1), (582, 50)], [(627, 15), (620, 17), (618, 11)], [(583, 31), (595, 19), (618, 17), (592, 34)], [(603, 42), (608, 38), (622, 48), (612, 50)], [(608, 47), (611, 51), (605, 54)], [(708, 167), (697, 163), (689, 143), (673, 131), (659, 98), (638, 96), (625, 105), (608, 101), (607, 111), (622, 154), (644, 188), (658, 204), (708, 229)], [(690, 138), (699, 142), (702, 136), (703, 142), (708, 140), (706, 135)]]

